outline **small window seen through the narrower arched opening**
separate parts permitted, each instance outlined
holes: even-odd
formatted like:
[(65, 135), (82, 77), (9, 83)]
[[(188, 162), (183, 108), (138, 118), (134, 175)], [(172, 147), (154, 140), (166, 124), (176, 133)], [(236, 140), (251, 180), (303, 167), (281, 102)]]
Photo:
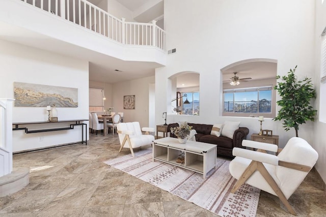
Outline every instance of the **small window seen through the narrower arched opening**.
[[(181, 96), (184, 94), (187, 97), (182, 97), (182, 114), (199, 115), (199, 92), (182, 92)], [(186, 100), (189, 104), (184, 104)]]

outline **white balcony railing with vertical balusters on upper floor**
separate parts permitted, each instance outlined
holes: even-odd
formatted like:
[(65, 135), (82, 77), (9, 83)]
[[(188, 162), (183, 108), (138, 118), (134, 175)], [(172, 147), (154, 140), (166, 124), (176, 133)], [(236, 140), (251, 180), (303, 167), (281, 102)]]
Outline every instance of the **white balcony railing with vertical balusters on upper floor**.
[(152, 23), (125, 22), (86, 0), (21, 0), (125, 45), (165, 50), (165, 32)]

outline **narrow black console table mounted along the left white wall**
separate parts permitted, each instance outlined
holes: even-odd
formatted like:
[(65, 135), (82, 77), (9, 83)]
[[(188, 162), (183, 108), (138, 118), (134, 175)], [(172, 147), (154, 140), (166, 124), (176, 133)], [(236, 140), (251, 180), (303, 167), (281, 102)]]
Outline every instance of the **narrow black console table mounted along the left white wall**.
[[(73, 130), (74, 126), (82, 126), (82, 144), (85, 142), (87, 145), (87, 123), (81, 123), (80, 121), (87, 121), (88, 119), (78, 119), (78, 120), (59, 120), (57, 122), (49, 122), (49, 121), (37, 121), (37, 122), (17, 122), (17, 123), (12, 123), (13, 126), (13, 131), (16, 130), (24, 130), (26, 134), (29, 133), (41, 133), (41, 132), (50, 132), (50, 131), (62, 131), (62, 130)], [(74, 122), (70, 123), (69, 127), (61, 127), (61, 128), (55, 128), (56, 123), (63, 123), (63, 122)], [(42, 125), (44, 123), (48, 123), (53, 125), (53, 128), (46, 128), (46, 129), (40, 129), (40, 130), (29, 130), (27, 127), (22, 127), (19, 128), (19, 125)], [(86, 135), (86, 140), (84, 141), (84, 126), (85, 126), (85, 135)]]

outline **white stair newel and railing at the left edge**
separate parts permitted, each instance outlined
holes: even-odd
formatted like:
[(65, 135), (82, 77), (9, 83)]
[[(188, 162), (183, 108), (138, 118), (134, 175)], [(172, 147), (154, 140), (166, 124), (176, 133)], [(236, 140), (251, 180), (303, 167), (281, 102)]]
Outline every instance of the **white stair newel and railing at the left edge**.
[(0, 99), (0, 177), (12, 172), (12, 104)]

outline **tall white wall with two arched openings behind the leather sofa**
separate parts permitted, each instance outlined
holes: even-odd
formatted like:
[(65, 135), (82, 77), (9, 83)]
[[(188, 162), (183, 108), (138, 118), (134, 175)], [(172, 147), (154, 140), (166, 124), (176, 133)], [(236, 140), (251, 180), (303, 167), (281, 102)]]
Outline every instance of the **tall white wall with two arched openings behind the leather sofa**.
[[(171, 83), (168, 78), (182, 71), (200, 73), (200, 116), (168, 115), (168, 122), (186, 120), (218, 123), (240, 120), (259, 131), (257, 118), (221, 117), (221, 69), (237, 61), (252, 58), (277, 60), (277, 74), (285, 75), (298, 65), (298, 79), (314, 76), (314, 12), (312, 1), (165, 1), (167, 67), (156, 69), (156, 123), (164, 111), (170, 111)], [(205, 13), (203, 13), (205, 12)], [(302, 16), (305, 14), (305, 16)], [(278, 99), (277, 99), (278, 100)], [(295, 131), (285, 132), (280, 121), (266, 118), (264, 129), (280, 136), (283, 147)], [(300, 126), (299, 136), (313, 142), (313, 123)], [(250, 136), (249, 135), (249, 136)]]

